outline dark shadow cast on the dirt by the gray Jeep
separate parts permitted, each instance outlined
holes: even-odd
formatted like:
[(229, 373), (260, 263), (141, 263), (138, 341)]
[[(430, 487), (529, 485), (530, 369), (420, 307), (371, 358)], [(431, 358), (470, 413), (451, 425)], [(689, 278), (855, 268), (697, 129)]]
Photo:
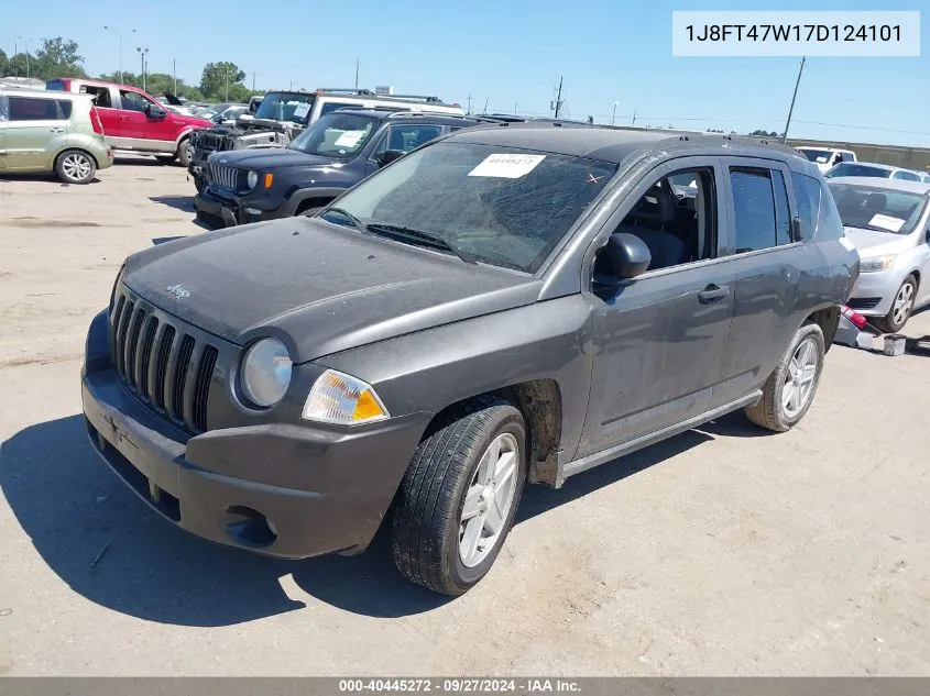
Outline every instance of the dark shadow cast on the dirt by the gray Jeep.
[[(530, 486), (517, 523), (712, 439), (690, 431), (575, 476), (558, 490)], [(173, 527), (98, 460), (81, 416), (29, 427), (3, 442), (0, 487), (36, 551), (72, 589), (142, 619), (230, 626), (304, 608), (282, 588), (288, 574), (320, 601), (366, 616), (408, 616), (450, 600), (396, 572), (387, 524), (361, 555), (295, 562), (215, 545)]]

